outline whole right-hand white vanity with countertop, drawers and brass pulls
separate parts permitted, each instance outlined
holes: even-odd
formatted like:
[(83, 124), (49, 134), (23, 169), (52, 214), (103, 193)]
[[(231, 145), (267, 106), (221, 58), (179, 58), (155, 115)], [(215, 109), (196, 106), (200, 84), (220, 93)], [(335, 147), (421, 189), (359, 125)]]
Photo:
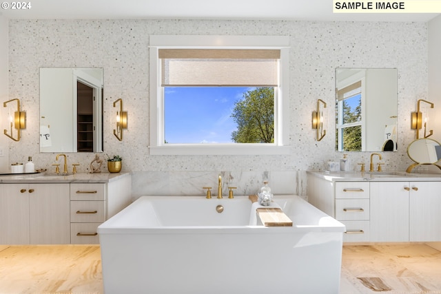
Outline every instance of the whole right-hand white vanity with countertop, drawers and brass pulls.
[(309, 202), (345, 224), (345, 242), (441, 241), (440, 176), (353, 175), (360, 180), (320, 171), (307, 178)]

